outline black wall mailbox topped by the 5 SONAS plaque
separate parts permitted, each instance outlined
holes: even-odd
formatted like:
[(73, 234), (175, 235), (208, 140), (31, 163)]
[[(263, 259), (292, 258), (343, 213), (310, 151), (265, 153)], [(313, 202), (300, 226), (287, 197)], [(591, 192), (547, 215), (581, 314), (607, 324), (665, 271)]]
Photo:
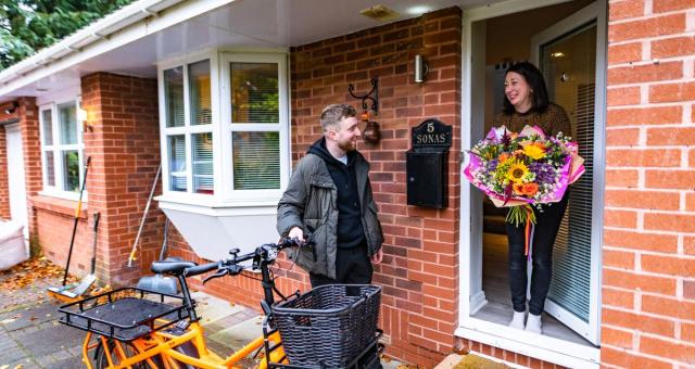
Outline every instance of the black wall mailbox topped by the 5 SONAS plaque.
[(406, 155), (408, 205), (447, 207), (448, 148), (452, 126), (427, 119), (412, 130)]

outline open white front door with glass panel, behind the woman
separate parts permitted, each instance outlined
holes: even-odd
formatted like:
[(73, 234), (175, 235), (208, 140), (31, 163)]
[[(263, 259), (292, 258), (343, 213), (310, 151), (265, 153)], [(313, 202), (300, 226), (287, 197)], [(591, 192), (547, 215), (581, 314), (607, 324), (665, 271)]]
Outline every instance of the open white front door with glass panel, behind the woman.
[(567, 213), (553, 251), (553, 280), (545, 311), (598, 345), (603, 221), (605, 43), (593, 3), (532, 39), (548, 98), (565, 107), (586, 171), (570, 187)]

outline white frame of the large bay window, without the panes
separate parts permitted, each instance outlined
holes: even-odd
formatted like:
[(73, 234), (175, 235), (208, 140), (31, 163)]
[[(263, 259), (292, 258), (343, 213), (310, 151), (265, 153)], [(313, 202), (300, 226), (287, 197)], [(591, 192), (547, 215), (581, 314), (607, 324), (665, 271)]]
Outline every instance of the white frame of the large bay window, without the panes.
[[(212, 93), (212, 124), (204, 126), (190, 125), (190, 93), (188, 84), (188, 65), (210, 60), (211, 93)], [(278, 63), (278, 89), (280, 122), (273, 124), (239, 124), (231, 122), (231, 101), (229, 97), (229, 63), (230, 62), (273, 62)], [(184, 69), (184, 127), (166, 127), (166, 97), (164, 90), (164, 71), (181, 66)], [(157, 64), (157, 89), (160, 107), (160, 143), (162, 153), (162, 196), (159, 201), (195, 205), (190, 211), (205, 212), (207, 208), (237, 206), (276, 206), (287, 187), (290, 173), (289, 145), (289, 80), (287, 71), (287, 52), (235, 52), (235, 51), (201, 51), (179, 56)], [(277, 190), (232, 190), (232, 130), (245, 131), (279, 131), (280, 140), (280, 188)], [(214, 194), (193, 193), (192, 188), (192, 153), (191, 135), (212, 132), (213, 136), (213, 170)], [(187, 192), (169, 189), (168, 136), (186, 136), (186, 168)]]

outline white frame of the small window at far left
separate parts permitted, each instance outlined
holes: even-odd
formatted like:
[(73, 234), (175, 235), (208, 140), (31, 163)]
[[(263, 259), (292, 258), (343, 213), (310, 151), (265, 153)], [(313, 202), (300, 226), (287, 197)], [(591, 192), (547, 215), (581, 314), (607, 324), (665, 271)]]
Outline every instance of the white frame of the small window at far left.
[[(60, 142), (60, 115), (59, 115), (59, 106), (67, 103), (75, 104), (75, 115), (76, 115), (76, 129), (77, 129), (77, 143), (71, 144), (62, 144)], [(81, 109), (81, 98), (80, 97), (72, 97), (72, 98), (63, 98), (60, 100), (52, 101), (50, 103), (39, 105), (39, 133), (40, 133), (40, 143), (41, 143), (41, 178), (43, 190), (40, 192), (42, 195), (60, 198), (65, 200), (77, 201), (79, 199), (79, 190), (77, 192), (66, 191), (63, 188), (64, 178), (63, 178), (63, 155), (61, 154), (63, 151), (67, 150), (77, 150), (77, 155), (79, 157), (79, 186), (81, 187), (85, 181), (85, 140), (84, 140), (84, 130), (83, 130), (83, 122), (80, 120), (79, 111)], [(51, 112), (51, 135), (53, 138), (53, 143), (51, 145), (45, 144), (45, 138), (47, 132), (45, 131), (43, 125), (43, 112)], [(48, 184), (48, 167), (47, 167), (47, 152), (53, 152), (53, 180), (54, 186)], [(83, 193), (83, 201), (87, 201), (87, 189)]]

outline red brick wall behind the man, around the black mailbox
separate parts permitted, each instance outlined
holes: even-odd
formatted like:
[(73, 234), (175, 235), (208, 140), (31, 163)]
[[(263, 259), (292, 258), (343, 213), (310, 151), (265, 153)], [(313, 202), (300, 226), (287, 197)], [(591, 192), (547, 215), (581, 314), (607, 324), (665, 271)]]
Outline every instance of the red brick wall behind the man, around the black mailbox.
[[(361, 142), (386, 236), (384, 260), (375, 268), (383, 287), (381, 327), (389, 354), (432, 367), (453, 349), (458, 296), (458, 162), (460, 150), (460, 37), (457, 8), (292, 49), (292, 155), (296, 161), (318, 138), (321, 110), (350, 103), (379, 77), (381, 142)], [(422, 54), (427, 81), (413, 82), (413, 60)], [(410, 127), (426, 118), (454, 127), (448, 208), (406, 205), (405, 152)]]

